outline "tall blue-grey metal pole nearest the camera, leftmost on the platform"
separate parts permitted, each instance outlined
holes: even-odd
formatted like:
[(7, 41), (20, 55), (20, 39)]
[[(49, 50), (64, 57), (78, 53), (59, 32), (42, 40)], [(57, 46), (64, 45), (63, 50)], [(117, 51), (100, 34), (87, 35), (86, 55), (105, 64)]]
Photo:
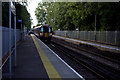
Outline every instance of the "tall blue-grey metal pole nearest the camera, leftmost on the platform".
[(12, 65), (11, 65), (11, 0), (9, 0), (9, 74), (11, 78)]

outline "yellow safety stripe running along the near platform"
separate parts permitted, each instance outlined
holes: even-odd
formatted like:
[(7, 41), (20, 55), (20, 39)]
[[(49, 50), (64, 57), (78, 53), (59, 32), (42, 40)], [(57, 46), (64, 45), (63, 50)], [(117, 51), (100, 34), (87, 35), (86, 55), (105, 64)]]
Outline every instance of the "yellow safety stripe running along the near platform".
[(43, 52), (43, 50), (40, 48), (38, 42), (35, 40), (34, 36), (31, 34), (33, 41), (36, 45), (36, 48), (38, 50), (38, 53), (41, 57), (41, 60), (43, 62), (43, 65), (47, 71), (47, 74), (49, 76), (50, 80), (55, 80), (55, 78), (57, 78), (57, 80), (62, 80), (62, 78), (60, 77), (60, 75), (58, 74), (58, 72), (56, 71), (56, 69), (54, 68), (54, 66), (51, 64), (51, 62), (49, 61), (49, 59), (47, 58), (47, 56), (45, 55), (45, 53)]

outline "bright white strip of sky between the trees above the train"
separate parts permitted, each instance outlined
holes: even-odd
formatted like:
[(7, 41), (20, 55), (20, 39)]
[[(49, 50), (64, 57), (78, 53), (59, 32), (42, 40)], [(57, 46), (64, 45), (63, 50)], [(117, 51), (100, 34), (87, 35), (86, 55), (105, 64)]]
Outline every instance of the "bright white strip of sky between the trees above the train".
[(33, 19), (32, 22), (33, 22), (33, 25), (32, 26), (35, 26), (37, 24), (37, 19), (36, 19), (36, 16), (35, 16), (35, 9), (37, 8), (38, 6), (38, 3), (41, 2), (41, 0), (30, 0), (30, 2), (28, 3), (28, 11), (31, 15), (31, 18)]

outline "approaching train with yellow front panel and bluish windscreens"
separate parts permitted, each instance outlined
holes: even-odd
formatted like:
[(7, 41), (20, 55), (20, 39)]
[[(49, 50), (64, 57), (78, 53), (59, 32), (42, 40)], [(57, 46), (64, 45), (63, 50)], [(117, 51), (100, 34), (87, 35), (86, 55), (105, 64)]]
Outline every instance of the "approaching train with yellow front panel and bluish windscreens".
[(51, 41), (52, 27), (50, 25), (41, 25), (34, 28), (34, 34), (42, 41)]

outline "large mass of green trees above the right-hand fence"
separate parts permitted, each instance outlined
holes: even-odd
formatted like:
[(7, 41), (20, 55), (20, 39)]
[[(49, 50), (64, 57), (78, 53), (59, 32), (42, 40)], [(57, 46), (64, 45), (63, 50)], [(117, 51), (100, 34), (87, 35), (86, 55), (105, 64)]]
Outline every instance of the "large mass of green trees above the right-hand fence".
[(39, 3), (38, 23), (60, 30), (120, 30), (120, 3), (46, 2)]

